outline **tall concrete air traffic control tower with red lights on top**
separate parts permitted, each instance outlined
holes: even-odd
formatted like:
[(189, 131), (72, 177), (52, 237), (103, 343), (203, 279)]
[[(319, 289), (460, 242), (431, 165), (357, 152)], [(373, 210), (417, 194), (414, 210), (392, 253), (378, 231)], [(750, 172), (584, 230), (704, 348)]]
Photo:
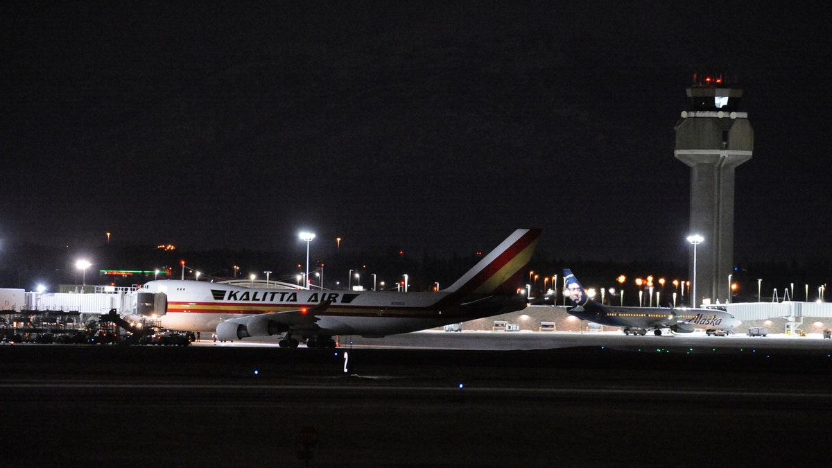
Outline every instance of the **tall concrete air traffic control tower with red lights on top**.
[(734, 269), (734, 171), (751, 158), (754, 130), (739, 112), (742, 89), (735, 80), (694, 75), (687, 88), (690, 110), (676, 124), (674, 156), (691, 167), (690, 234), (704, 237), (691, 248), (689, 276), (696, 251), (695, 305), (730, 298)]

